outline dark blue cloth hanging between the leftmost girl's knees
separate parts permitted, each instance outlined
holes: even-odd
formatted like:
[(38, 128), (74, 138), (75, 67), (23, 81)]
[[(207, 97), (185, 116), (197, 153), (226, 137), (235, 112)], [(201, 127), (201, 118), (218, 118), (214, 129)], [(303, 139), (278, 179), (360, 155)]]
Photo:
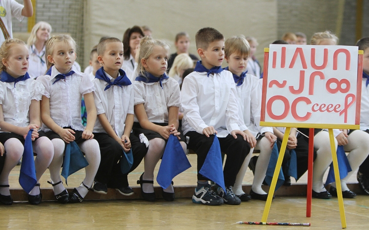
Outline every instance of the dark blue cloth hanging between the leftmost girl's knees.
[(32, 131), (30, 129), (26, 136), (23, 151), (22, 165), (20, 166), (19, 184), (26, 193), (30, 193), (37, 183), (36, 169), (34, 166), (33, 148), (32, 148)]

